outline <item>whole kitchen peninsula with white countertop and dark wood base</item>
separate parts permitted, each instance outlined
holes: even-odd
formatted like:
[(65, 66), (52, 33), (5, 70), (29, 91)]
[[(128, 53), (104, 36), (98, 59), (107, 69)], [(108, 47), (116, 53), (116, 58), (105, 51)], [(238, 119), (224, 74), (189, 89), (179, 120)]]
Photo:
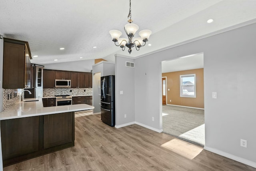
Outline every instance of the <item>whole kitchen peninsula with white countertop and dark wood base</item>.
[(43, 107), (39, 99), (1, 112), (3, 166), (74, 146), (74, 113), (90, 109), (87, 104)]

